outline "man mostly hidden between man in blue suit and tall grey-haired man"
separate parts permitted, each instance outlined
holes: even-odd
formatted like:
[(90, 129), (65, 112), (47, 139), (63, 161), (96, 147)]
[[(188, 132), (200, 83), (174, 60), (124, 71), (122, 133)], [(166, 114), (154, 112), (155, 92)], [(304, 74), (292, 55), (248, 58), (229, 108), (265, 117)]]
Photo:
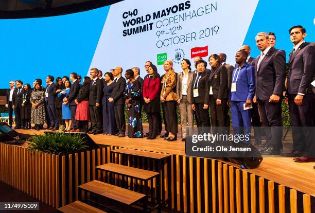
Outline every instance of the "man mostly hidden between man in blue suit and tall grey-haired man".
[[(248, 57), (246, 59), (246, 62), (249, 63), (252, 66), (255, 66), (255, 58), (250, 56), (251, 47), (249, 45), (243, 45), (241, 50), (245, 50), (248, 53)], [(236, 65), (235, 65), (236, 66)], [(258, 111), (258, 103), (252, 102), (252, 109), (250, 109), (251, 112), (251, 119), (253, 121), (253, 127), (254, 127), (254, 135), (255, 135), (255, 145), (258, 147), (263, 147), (261, 144), (261, 123), (260, 123), (260, 116)]]

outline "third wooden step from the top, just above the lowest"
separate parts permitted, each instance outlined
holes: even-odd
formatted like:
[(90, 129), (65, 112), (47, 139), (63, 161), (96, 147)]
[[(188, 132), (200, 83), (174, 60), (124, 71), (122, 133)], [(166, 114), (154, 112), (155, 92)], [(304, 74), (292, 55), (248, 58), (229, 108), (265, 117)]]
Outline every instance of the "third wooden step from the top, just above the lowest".
[(118, 186), (114, 186), (108, 183), (103, 183), (100, 181), (91, 181), (89, 183), (85, 183), (79, 186), (80, 189), (83, 189), (88, 192), (92, 192), (98, 194), (99, 196), (103, 196), (120, 203), (124, 203), (126, 205), (132, 205), (135, 202), (146, 197), (145, 194), (138, 193), (135, 191), (131, 191), (128, 189), (124, 189)]

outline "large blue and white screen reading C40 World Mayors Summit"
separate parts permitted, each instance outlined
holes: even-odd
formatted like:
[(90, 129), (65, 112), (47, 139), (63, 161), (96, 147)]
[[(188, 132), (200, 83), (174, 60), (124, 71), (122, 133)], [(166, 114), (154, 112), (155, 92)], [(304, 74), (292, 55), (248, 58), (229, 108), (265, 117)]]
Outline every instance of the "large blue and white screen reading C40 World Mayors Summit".
[(10, 80), (31, 84), (47, 75), (86, 76), (91, 67), (104, 73), (115, 66), (137, 66), (144, 76), (146, 61), (163, 74), (166, 59), (181, 72), (183, 58), (207, 61), (219, 52), (235, 64), (235, 52), (243, 44), (251, 46), (252, 57), (259, 55), (255, 35), (261, 31), (276, 34), (275, 47), (284, 49), (288, 60), (291, 26), (303, 25), (305, 40), (315, 42), (313, 1), (303, 1), (303, 10), (295, 6), (285, 0), (125, 0), (68, 15), (0, 20), (0, 88)]

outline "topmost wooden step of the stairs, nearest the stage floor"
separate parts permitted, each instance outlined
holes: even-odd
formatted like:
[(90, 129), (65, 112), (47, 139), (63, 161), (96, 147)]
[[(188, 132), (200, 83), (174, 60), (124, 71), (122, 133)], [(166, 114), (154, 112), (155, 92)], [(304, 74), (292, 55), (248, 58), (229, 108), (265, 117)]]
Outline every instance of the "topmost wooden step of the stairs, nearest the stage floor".
[(158, 159), (158, 160), (161, 160), (170, 156), (170, 154), (142, 151), (142, 150), (136, 150), (136, 149), (126, 149), (126, 148), (111, 150), (111, 152), (117, 153), (117, 154), (148, 157), (148, 158)]

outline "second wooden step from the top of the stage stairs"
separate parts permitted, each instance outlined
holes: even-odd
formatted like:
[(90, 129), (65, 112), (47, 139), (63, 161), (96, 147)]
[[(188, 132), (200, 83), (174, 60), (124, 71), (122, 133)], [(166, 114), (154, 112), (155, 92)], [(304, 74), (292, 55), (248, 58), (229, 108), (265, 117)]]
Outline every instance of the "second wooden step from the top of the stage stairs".
[(123, 165), (113, 164), (113, 163), (103, 164), (103, 165), (97, 166), (96, 168), (103, 171), (126, 175), (126, 176), (129, 176), (130, 178), (136, 178), (142, 181), (150, 180), (154, 178), (155, 176), (159, 175), (158, 172), (123, 166)]

